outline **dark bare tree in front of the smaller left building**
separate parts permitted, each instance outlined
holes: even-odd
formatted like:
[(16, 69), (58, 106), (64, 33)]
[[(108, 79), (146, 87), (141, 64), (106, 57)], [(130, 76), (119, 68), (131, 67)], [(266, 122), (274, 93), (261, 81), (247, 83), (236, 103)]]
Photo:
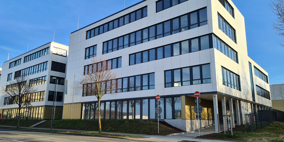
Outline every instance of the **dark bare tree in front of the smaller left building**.
[(1, 89), (6, 95), (12, 99), (12, 104), (18, 105), (18, 124), (20, 125), (21, 120), (21, 109), (23, 107), (31, 107), (31, 93), (36, 92), (36, 88), (30, 85), (27, 77), (21, 77), (14, 79), (3, 86)]

